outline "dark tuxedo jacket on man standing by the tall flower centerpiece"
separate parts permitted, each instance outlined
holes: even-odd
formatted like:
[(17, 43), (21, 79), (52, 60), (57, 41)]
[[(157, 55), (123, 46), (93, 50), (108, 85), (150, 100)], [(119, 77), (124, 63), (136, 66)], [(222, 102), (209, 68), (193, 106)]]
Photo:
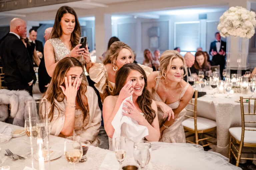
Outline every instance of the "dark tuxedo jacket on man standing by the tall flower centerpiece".
[[(220, 42), (220, 51), (223, 50), (223, 51), (226, 52), (226, 46), (227, 46), (226, 42), (221, 41)], [(213, 49), (213, 51), (217, 52), (216, 41), (211, 42), (209, 54), (211, 54), (212, 49)], [(226, 61), (226, 55), (216, 54), (216, 55), (212, 56), (212, 62), (213, 62), (214, 65), (220, 65), (220, 67), (224, 68), (225, 61)]]

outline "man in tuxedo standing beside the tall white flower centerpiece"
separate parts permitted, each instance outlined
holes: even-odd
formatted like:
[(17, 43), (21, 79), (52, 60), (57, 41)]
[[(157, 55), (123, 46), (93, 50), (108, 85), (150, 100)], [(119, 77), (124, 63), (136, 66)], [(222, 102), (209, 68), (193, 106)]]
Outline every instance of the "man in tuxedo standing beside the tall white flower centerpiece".
[(220, 65), (220, 76), (223, 80), (223, 69), (226, 63), (226, 42), (221, 41), (220, 33), (215, 33), (216, 41), (211, 42), (209, 53), (212, 55), (214, 65)]

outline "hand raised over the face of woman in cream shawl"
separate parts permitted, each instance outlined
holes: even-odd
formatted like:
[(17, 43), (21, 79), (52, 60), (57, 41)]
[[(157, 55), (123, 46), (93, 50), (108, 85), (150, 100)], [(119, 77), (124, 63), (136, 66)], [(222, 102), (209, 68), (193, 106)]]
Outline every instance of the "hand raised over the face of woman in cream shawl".
[(69, 76), (69, 78), (65, 77), (65, 86), (66, 86), (66, 89), (61, 85), (60, 85), (60, 88), (62, 89), (64, 95), (67, 97), (67, 102), (75, 103), (77, 89), (79, 86), (79, 80), (75, 78), (74, 83), (72, 85), (71, 75)]

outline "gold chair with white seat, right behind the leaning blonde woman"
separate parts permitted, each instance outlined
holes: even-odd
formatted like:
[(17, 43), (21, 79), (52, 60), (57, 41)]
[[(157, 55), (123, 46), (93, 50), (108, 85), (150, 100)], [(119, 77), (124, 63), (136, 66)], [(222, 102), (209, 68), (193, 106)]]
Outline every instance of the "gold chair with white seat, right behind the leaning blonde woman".
[[(192, 100), (188, 103), (188, 105), (194, 106), (194, 110), (186, 109), (187, 111), (193, 112), (194, 116), (185, 115), (185, 117), (188, 117), (188, 119), (184, 120), (182, 122), (182, 125), (183, 125), (183, 128), (184, 128), (185, 132), (192, 132), (193, 133), (193, 134), (190, 134), (190, 135), (186, 136), (186, 141), (188, 143), (199, 144), (199, 141), (206, 140), (207, 144), (202, 145), (203, 147), (205, 147), (205, 146), (209, 146), (211, 144), (217, 143), (217, 142), (209, 141), (208, 139), (216, 138), (216, 136), (207, 133), (207, 132), (216, 130), (217, 127), (216, 127), (216, 122), (215, 121), (197, 116), (197, 96), (198, 96), (198, 92), (197, 92), (197, 90), (195, 90), (195, 101), (194, 101), (194, 103), (192, 102)], [(198, 138), (199, 133), (206, 134), (209, 137), (199, 139)], [(190, 140), (187, 139), (188, 137), (191, 137), (193, 135), (195, 135), (195, 142), (190, 141)]]

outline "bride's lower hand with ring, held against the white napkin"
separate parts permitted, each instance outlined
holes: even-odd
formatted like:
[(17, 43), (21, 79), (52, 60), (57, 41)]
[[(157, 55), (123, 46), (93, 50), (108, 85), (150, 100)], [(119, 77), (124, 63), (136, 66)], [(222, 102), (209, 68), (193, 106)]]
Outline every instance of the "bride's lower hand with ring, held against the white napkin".
[(128, 116), (130, 118), (132, 118), (133, 120), (137, 121), (139, 124), (140, 122), (145, 119), (141, 114), (140, 112), (138, 111), (138, 109), (135, 107), (134, 103), (130, 100), (126, 100), (126, 103), (124, 103), (128, 106), (128, 108), (125, 108), (123, 107), (123, 110), (128, 112), (127, 113), (124, 113), (123, 112), (123, 115), (124, 116)]

